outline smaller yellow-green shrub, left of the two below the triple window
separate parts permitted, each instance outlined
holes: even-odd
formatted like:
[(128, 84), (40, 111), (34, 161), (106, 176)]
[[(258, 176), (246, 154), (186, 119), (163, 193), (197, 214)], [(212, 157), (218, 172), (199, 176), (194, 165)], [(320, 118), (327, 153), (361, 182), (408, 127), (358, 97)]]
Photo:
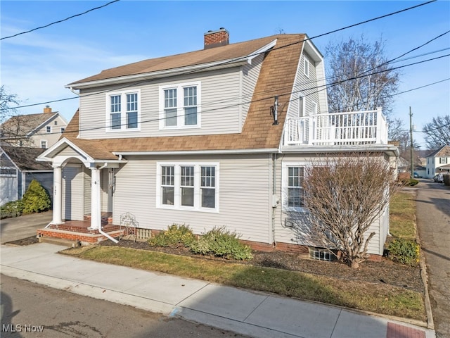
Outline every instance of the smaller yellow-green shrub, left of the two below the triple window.
[(188, 225), (170, 225), (165, 232), (160, 232), (155, 237), (148, 239), (150, 246), (184, 246), (188, 248), (195, 242), (195, 234)]

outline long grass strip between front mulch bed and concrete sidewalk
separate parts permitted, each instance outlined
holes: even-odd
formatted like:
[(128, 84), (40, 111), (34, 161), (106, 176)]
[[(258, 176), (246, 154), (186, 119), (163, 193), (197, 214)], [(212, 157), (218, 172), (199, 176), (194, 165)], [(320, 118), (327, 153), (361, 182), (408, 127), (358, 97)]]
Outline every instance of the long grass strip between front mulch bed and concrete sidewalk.
[(85, 251), (66, 250), (80, 258), (158, 271), (242, 287), (281, 296), (320, 301), (373, 313), (426, 320), (423, 295), (386, 284), (340, 280), (276, 268), (226, 263), (168, 253), (115, 246), (94, 246)]

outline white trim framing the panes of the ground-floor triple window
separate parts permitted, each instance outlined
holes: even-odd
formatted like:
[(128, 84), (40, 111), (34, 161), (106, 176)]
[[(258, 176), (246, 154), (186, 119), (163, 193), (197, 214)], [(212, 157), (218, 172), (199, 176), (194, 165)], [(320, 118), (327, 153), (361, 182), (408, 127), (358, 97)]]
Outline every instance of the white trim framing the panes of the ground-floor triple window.
[[(161, 175), (163, 166), (174, 166), (174, 204), (161, 203)], [(194, 206), (181, 206), (181, 167), (194, 167)], [(201, 206), (201, 167), (215, 167), (215, 208), (204, 208)], [(200, 211), (205, 213), (219, 213), (219, 163), (218, 162), (157, 162), (156, 163), (156, 208), (182, 211)]]

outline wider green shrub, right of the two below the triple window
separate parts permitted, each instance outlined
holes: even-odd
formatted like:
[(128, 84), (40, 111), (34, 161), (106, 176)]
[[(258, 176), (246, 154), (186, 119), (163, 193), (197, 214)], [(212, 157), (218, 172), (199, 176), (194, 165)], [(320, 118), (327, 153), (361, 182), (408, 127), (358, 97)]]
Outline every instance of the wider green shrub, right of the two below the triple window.
[(214, 227), (191, 246), (193, 253), (238, 260), (252, 259), (250, 246), (239, 242), (236, 232)]

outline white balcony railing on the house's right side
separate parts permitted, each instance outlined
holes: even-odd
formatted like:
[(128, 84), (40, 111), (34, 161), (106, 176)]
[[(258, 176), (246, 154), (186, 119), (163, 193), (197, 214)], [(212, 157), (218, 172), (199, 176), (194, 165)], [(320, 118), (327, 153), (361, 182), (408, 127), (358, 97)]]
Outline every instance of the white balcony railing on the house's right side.
[(284, 144), (286, 146), (387, 144), (387, 121), (381, 108), (375, 111), (288, 118), (285, 124)]

